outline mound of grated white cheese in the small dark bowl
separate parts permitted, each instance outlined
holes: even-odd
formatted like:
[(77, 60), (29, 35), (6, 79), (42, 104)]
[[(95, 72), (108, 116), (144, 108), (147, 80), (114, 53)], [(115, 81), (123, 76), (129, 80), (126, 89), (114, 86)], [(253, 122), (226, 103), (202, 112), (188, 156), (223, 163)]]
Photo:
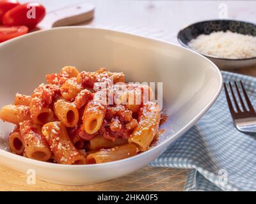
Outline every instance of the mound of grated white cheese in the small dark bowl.
[(189, 42), (189, 47), (216, 57), (246, 59), (256, 57), (256, 36), (218, 31), (200, 34)]

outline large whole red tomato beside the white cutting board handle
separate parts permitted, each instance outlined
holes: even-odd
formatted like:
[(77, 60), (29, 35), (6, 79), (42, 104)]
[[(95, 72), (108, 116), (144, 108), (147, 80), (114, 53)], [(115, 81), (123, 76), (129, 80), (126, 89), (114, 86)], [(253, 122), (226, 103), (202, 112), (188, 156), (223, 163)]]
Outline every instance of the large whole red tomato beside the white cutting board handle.
[(3, 16), (4, 25), (26, 25), (33, 29), (45, 17), (45, 8), (39, 3), (26, 3), (7, 11)]

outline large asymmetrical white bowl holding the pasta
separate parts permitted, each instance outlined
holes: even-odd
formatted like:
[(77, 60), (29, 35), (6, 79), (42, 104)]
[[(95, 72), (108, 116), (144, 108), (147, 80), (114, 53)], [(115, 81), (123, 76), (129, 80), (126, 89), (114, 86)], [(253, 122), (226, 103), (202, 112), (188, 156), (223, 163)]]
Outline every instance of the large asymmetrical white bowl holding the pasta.
[(124, 176), (159, 156), (170, 143), (204, 115), (221, 91), (219, 69), (187, 48), (164, 41), (105, 29), (60, 27), (27, 34), (0, 45), (0, 106), (13, 103), (16, 92), (31, 94), (45, 74), (72, 65), (93, 71), (124, 71), (128, 82), (163, 82), (164, 108), (170, 114), (152, 149), (120, 161), (90, 165), (45, 163), (8, 152), (12, 125), (0, 122), (0, 163), (58, 184), (93, 184)]

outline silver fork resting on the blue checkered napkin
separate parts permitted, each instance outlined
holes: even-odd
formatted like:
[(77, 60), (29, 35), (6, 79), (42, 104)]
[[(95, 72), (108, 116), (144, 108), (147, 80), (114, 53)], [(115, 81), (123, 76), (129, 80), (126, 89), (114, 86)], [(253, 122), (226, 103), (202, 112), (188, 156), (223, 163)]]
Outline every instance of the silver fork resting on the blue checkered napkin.
[[(232, 95), (232, 98), (233, 98), (233, 101), (234, 101), (234, 105), (236, 107), (236, 110), (235, 110), (234, 107), (232, 106), (232, 102), (231, 102), (230, 96), (228, 94), (227, 85), (224, 83), (224, 88), (225, 88), (225, 94), (226, 94), (226, 98), (227, 98), (227, 102), (228, 102), (228, 107), (229, 107), (231, 116), (234, 120), (234, 125), (241, 132), (256, 133), (256, 113), (255, 113), (255, 110), (252, 106), (252, 103), (251, 103), (248, 95), (246, 94), (243, 83), (240, 81), (245, 101), (243, 100), (243, 98), (241, 96), (241, 92), (239, 91), (237, 82), (234, 82), (235, 87), (236, 87), (236, 91), (237, 91), (237, 95), (238, 95), (238, 98), (239, 98), (239, 101), (241, 103), (241, 106), (242, 106), (243, 110), (241, 110), (241, 108), (239, 107), (239, 105), (237, 103), (237, 98), (236, 98), (236, 95), (234, 94), (231, 83), (228, 82), (228, 84), (229, 84), (229, 87), (230, 87), (230, 91), (231, 91), (231, 95)], [(246, 109), (246, 106), (245, 106), (244, 102), (246, 102), (246, 105), (248, 106), (248, 109)]]

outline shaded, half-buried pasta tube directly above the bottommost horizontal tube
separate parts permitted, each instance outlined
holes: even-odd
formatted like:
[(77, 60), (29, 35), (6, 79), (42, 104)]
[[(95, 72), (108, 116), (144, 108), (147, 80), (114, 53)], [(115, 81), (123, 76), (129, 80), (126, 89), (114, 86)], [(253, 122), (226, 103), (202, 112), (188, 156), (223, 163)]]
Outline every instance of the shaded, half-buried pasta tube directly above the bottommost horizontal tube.
[(124, 145), (128, 143), (127, 140), (124, 138), (116, 138), (116, 140), (113, 142), (111, 140), (106, 140), (102, 137), (102, 135), (97, 135), (92, 138), (92, 140), (89, 141), (89, 149), (90, 150), (99, 150), (99, 149), (108, 149), (111, 147), (115, 147), (118, 145)]

